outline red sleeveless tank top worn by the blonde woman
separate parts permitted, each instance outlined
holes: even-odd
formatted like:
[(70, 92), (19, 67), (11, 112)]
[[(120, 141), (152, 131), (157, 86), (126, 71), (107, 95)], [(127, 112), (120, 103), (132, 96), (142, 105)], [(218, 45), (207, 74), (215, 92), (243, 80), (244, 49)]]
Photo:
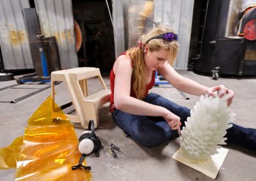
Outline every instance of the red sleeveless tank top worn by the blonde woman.
[[(126, 53), (122, 53), (120, 55), (126, 55)], [(119, 56), (120, 56), (119, 55)], [(118, 57), (119, 57), (118, 56)], [(114, 66), (113, 66), (114, 68)], [(113, 113), (114, 110), (116, 110), (115, 108), (115, 102), (114, 102), (114, 87), (115, 87), (115, 73), (114, 73), (114, 70), (113, 68), (111, 69), (111, 72), (110, 72), (110, 88), (111, 88), (111, 97), (110, 97), (110, 112)], [(145, 90), (145, 93), (144, 93), (144, 97), (147, 96), (148, 94), (148, 91), (150, 89), (152, 89), (152, 87), (154, 86), (155, 84), (155, 74), (156, 74), (156, 71), (153, 71), (152, 73), (152, 78), (151, 78), (151, 81), (147, 84), (146, 86), (146, 90)], [(134, 90), (133, 90), (133, 81), (131, 80), (131, 93), (130, 93), (130, 96), (133, 97), (133, 98), (137, 98), (136, 94), (134, 93)]]

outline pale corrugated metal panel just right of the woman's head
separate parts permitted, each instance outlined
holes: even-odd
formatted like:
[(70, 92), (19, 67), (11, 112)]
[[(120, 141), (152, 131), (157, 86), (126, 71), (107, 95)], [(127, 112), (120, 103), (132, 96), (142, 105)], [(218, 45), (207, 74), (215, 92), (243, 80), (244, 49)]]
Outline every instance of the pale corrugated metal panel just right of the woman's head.
[(170, 25), (179, 34), (180, 50), (173, 65), (175, 69), (188, 68), (193, 8), (194, 0), (154, 0), (154, 22)]

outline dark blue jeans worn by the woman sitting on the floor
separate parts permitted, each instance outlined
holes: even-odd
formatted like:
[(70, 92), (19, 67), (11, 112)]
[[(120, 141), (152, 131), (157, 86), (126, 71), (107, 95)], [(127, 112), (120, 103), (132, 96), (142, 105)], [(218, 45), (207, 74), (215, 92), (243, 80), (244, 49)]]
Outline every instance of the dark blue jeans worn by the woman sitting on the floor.
[[(184, 122), (190, 116), (188, 108), (177, 105), (158, 94), (150, 93), (143, 101), (152, 105), (163, 106), (179, 116), (182, 123), (180, 129), (185, 126)], [(132, 139), (146, 147), (153, 147), (179, 136), (177, 130), (171, 129), (163, 117), (132, 115), (120, 110), (115, 110), (112, 117), (118, 127), (129, 134)], [(232, 127), (227, 129), (225, 137), (228, 138), (227, 142), (238, 143), (243, 147), (256, 150), (256, 129), (244, 128), (233, 124)]]

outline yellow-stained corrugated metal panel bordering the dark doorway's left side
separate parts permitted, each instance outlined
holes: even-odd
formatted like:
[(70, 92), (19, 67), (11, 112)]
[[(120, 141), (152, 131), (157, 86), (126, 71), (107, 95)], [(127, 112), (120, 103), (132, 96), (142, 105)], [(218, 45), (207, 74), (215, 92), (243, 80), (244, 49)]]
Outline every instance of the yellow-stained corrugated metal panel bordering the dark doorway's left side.
[(61, 68), (78, 66), (71, 0), (35, 0), (36, 12), (44, 36), (58, 41)]

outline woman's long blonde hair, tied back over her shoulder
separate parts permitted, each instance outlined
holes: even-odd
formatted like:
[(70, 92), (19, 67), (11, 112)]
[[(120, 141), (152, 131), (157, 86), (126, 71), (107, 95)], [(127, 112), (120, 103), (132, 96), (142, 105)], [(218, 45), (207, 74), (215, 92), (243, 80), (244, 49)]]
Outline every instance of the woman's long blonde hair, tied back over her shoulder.
[[(147, 34), (141, 36), (141, 43), (143, 47), (145, 43), (150, 40), (150, 38), (154, 36), (158, 36), (163, 33), (172, 32), (173, 30), (170, 27), (166, 26), (157, 26), (154, 27)], [(161, 48), (164, 50), (168, 50), (167, 61), (170, 65), (173, 65), (175, 59), (177, 57), (177, 51), (179, 49), (179, 43), (177, 41), (165, 41), (163, 39), (153, 39), (148, 41), (147, 43), (148, 49), (150, 52), (159, 51)], [(133, 90), (138, 99), (143, 99), (146, 89), (145, 83), (145, 61), (144, 61), (144, 53), (143, 48), (133, 47), (127, 50), (127, 57), (132, 60), (133, 71), (132, 71), (132, 82), (133, 82)]]

